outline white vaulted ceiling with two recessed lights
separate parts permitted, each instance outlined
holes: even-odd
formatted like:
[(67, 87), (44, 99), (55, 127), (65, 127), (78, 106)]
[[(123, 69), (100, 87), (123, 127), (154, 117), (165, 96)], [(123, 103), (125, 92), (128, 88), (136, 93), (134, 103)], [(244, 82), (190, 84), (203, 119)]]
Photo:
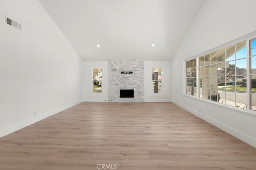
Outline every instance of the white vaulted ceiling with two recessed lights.
[[(83, 61), (170, 60), (204, 3), (204, 0), (39, 1)], [(100, 47), (96, 47), (98, 44)]]

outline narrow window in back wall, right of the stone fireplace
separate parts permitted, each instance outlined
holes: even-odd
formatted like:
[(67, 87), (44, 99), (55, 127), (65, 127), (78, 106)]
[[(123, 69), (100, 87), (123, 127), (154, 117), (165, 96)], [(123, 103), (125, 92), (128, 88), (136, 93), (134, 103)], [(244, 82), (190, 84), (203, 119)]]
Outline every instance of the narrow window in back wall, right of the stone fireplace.
[(162, 93), (162, 68), (152, 69), (153, 93)]

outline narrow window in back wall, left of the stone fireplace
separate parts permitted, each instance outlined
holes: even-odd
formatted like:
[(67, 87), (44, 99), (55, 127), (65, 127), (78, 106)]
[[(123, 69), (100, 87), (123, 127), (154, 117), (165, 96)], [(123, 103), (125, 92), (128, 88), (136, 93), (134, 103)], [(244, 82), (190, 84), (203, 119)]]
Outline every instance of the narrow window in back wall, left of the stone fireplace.
[(93, 93), (101, 94), (102, 90), (102, 69), (92, 69)]

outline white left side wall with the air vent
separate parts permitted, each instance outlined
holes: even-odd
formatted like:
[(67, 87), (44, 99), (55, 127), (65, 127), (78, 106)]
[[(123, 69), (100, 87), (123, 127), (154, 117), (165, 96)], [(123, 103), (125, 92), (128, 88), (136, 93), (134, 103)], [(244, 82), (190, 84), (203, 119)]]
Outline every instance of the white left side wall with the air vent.
[(0, 21), (1, 137), (81, 102), (82, 61), (37, 0), (1, 0)]

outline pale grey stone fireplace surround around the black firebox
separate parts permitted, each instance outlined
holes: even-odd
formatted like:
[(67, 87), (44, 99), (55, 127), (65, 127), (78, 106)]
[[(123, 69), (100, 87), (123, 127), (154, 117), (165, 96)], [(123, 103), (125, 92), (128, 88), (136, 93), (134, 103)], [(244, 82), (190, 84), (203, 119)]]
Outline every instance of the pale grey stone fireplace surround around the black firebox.
[[(121, 74), (121, 71), (133, 73)], [(110, 60), (109, 76), (110, 102), (144, 102), (144, 61)], [(133, 89), (134, 98), (120, 98), (120, 89)]]

